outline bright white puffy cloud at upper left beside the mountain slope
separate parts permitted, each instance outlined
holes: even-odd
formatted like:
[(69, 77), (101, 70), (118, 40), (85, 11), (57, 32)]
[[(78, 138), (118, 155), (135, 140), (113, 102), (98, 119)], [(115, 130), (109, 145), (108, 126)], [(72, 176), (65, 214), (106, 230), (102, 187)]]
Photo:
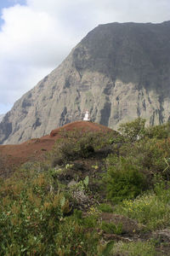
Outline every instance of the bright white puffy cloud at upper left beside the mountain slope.
[(3, 20), (0, 55), (5, 60), (50, 66), (61, 61), (73, 46), (73, 37), (48, 13), (16, 5), (3, 9)]

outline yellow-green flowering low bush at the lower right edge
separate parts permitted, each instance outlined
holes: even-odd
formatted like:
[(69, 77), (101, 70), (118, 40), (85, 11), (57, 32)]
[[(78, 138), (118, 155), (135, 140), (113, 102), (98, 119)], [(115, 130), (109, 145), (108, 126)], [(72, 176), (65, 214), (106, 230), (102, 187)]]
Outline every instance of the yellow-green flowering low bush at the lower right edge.
[(166, 189), (169, 186), (169, 183), (166, 186), (157, 183), (155, 192), (148, 191), (134, 201), (122, 201), (122, 205), (116, 207), (116, 212), (137, 219), (149, 230), (165, 228), (170, 224), (170, 189)]

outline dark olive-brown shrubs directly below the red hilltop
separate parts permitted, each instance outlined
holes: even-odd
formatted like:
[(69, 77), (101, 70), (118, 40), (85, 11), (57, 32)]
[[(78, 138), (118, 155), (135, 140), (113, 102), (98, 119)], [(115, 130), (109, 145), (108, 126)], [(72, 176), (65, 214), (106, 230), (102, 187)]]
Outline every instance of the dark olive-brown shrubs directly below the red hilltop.
[(51, 165), (54, 167), (67, 160), (88, 158), (94, 154), (94, 150), (118, 142), (122, 142), (122, 136), (116, 131), (61, 131), (50, 154)]

